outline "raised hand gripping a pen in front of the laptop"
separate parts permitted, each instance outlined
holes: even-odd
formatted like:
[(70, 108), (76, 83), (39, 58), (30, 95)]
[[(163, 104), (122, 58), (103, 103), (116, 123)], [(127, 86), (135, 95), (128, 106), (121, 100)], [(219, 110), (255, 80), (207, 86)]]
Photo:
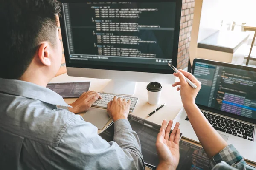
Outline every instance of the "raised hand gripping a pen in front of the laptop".
[[(199, 82), (191, 73), (181, 69), (179, 69), (178, 73), (174, 73), (173, 75), (175, 77), (179, 77), (180, 79), (180, 82), (175, 82), (172, 87), (180, 85), (180, 88), (177, 88), (177, 91), (180, 91), (180, 96), (184, 107), (186, 104), (194, 105), (195, 98), (201, 89), (201, 82)], [(189, 83), (186, 81), (186, 78), (195, 84), (197, 88), (191, 88), (191, 85), (189, 85)]]

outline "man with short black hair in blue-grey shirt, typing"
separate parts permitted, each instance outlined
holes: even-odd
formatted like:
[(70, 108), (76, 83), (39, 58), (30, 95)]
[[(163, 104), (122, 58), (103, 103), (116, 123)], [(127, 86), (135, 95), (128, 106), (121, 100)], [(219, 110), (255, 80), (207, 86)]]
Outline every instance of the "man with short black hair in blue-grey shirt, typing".
[(115, 122), (108, 143), (76, 115), (101, 98), (98, 93), (67, 105), (46, 88), (61, 65), (59, 12), (55, 0), (0, 1), (0, 169), (144, 169), (127, 120), (131, 101), (108, 104)]

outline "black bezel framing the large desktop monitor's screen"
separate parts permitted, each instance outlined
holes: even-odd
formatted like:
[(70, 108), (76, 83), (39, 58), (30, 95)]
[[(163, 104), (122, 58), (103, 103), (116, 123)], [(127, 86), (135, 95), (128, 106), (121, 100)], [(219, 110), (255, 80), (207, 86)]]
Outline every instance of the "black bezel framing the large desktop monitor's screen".
[[(87, 3), (87, 2), (106, 2), (105, 0), (58, 0), (61, 3)], [(178, 46), (179, 46), (179, 36), (180, 36), (180, 17), (181, 17), (181, 8), (182, 8), (182, 0), (111, 0), (110, 2), (175, 2), (176, 3), (176, 13), (175, 16), (175, 32), (174, 32), (174, 42), (173, 45), (173, 56), (178, 56)], [(62, 17), (63, 16), (63, 17)], [(124, 66), (108, 66), (108, 65), (90, 65), (90, 64), (78, 64), (78, 63), (70, 63), (69, 50), (68, 50), (68, 42), (67, 42), (67, 34), (66, 34), (66, 26), (64, 21), (64, 11), (63, 4), (61, 5), (61, 15), (59, 17), (60, 25), (61, 25), (61, 35), (62, 42), (64, 47), (64, 55), (66, 60), (66, 66), (70, 68), (91, 68), (91, 69), (99, 69), (99, 70), (113, 70), (113, 71), (133, 71), (133, 72), (145, 72), (145, 73), (158, 73), (158, 74), (173, 74), (174, 71), (168, 69), (155, 69), (155, 68), (136, 68), (136, 67), (124, 67)], [(146, 64), (145, 64), (146, 65)], [(177, 57), (172, 59), (172, 65), (177, 67)], [(163, 67), (164, 68), (164, 67)]]

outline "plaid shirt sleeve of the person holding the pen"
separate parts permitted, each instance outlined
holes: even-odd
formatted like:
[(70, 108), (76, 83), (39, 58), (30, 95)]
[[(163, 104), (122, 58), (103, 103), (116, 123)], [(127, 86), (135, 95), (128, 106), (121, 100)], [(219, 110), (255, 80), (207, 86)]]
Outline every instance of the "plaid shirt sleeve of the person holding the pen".
[(236, 148), (230, 144), (209, 161), (211, 170), (256, 170), (244, 161)]

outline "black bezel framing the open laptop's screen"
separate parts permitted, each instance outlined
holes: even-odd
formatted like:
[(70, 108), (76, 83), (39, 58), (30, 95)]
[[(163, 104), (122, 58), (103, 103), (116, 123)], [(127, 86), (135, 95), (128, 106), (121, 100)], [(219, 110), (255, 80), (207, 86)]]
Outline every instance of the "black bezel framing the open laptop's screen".
[[(207, 60), (207, 59), (195, 58), (194, 61), (193, 61), (193, 66), (192, 66), (192, 71), (191, 71), (192, 74), (194, 74), (195, 63), (196, 62), (203, 62), (203, 63), (206, 63), (206, 64), (219, 65), (219, 66), (224, 66), (224, 67), (237, 68), (237, 69), (243, 69), (243, 70), (247, 70), (247, 71), (256, 72), (256, 68), (253, 68), (253, 67), (248, 67), (248, 66), (244, 66), (244, 65), (230, 64), (230, 63), (226, 63), (226, 62), (212, 61), (212, 60)], [(221, 111), (221, 110), (218, 110), (218, 109), (215, 109), (215, 108), (210, 108), (208, 106), (200, 105), (200, 104), (197, 104), (197, 103), (196, 103), (196, 105), (200, 109), (205, 110), (205, 111), (218, 113), (220, 115), (224, 115), (224, 116), (232, 117), (234, 119), (239, 119), (239, 120), (242, 120), (242, 121), (245, 121), (245, 122), (250, 122), (250, 123), (256, 124), (256, 119), (235, 115), (233, 113), (229, 113), (229, 112), (226, 112), (226, 111)]]

